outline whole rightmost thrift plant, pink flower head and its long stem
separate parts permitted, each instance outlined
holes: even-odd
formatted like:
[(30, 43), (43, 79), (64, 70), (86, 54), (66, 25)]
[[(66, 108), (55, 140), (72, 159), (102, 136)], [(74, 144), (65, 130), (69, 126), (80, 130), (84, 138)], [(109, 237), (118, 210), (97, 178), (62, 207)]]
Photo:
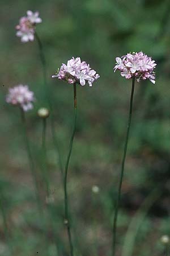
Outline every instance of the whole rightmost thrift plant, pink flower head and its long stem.
[(156, 63), (154, 60), (151, 59), (151, 57), (148, 57), (143, 52), (133, 52), (133, 53), (128, 53), (127, 55), (122, 57), (116, 57), (116, 65), (113, 68), (114, 72), (118, 69), (122, 77), (125, 77), (126, 79), (132, 79), (128, 129), (126, 133), (125, 146), (124, 146), (124, 152), (123, 152), (122, 163), (121, 163), (121, 175), (120, 175), (120, 181), (118, 184), (118, 194), (117, 194), (117, 201), (116, 201), (114, 220), (113, 220), (113, 243), (112, 243), (113, 256), (116, 253), (117, 216), (118, 216), (118, 208), (120, 204), (122, 180), (124, 176), (126, 152), (128, 148), (135, 80), (139, 82), (141, 80), (149, 79), (153, 84), (155, 84), (155, 73), (154, 73), (155, 67), (156, 67)]

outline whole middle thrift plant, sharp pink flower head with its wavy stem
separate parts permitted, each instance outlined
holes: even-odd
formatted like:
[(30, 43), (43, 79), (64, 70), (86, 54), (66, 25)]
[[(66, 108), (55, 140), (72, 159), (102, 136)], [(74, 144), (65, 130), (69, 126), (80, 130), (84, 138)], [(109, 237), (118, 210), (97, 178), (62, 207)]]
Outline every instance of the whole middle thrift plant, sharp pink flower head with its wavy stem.
[(61, 68), (58, 69), (56, 75), (52, 77), (57, 77), (59, 80), (67, 81), (69, 84), (73, 85), (74, 90), (74, 125), (73, 125), (73, 133), (70, 139), (69, 153), (67, 155), (66, 164), (65, 164), (65, 173), (63, 177), (63, 187), (65, 193), (65, 220), (64, 224), (67, 227), (67, 234), (69, 238), (70, 245), (70, 255), (74, 256), (74, 248), (71, 236), (70, 229), (70, 217), (69, 217), (69, 207), (68, 207), (68, 196), (67, 196), (67, 172), (69, 167), (69, 161), (71, 156), (71, 151), (73, 147), (73, 140), (76, 129), (76, 116), (77, 116), (77, 102), (76, 102), (76, 85), (86, 85), (88, 83), (89, 86), (92, 86), (93, 82), (96, 81), (100, 76), (96, 73), (94, 69), (90, 68), (90, 65), (86, 63), (86, 61), (82, 61), (80, 57), (72, 57), (71, 60), (67, 61), (67, 64), (62, 64)]

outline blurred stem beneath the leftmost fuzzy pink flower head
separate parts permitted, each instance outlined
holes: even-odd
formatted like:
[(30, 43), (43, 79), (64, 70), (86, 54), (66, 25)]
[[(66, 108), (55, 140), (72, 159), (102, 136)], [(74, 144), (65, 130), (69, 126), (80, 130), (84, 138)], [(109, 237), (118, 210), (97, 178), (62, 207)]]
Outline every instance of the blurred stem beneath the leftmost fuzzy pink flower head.
[(23, 123), (23, 133), (24, 133), (24, 139), (25, 139), (25, 146), (26, 146), (27, 154), (28, 154), (29, 166), (30, 166), (30, 169), (31, 169), (33, 182), (35, 183), (37, 206), (39, 208), (39, 212), (41, 213), (39, 187), (38, 187), (37, 175), (36, 175), (36, 171), (35, 171), (35, 165), (34, 165), (32, 154), (31, 154), (31, 148), (29, 146), (29, 141), (28, 141), (25, 113), (24, 113), (22, 108), (20, 110), (21, 110), (21, 118), (22, 118), (22, 123)]

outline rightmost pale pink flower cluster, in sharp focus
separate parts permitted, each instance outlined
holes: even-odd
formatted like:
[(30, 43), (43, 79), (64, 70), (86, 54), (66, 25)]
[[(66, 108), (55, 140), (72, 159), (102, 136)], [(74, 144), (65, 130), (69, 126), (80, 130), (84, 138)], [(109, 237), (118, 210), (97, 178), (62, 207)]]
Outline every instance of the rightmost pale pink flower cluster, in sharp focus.
[(143, 52), (128, 53), (125, 56), (116, 57), (116, 65), (114, 72), (118, 69), (121, 76), (126, 79), (135, 77), (137, 81), (149, 79), (155, 84), (154, 68), (156, 66), (155, 60), (148, 57)]

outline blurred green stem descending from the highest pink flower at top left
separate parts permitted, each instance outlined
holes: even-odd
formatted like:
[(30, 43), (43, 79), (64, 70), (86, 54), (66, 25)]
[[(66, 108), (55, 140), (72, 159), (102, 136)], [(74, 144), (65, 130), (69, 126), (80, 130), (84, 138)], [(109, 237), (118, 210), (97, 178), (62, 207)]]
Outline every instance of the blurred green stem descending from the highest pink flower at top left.
[(44, 78), (44, 93), (45, 93), (45, 97), (48, 101), (49, 109), (51, 112), (50, 113), (50, 126), (51, 126), (51, 131), (52, 131), (52, 137), (53, 137), (54, 147), (56, 149), (57, 156), (58, 156), (59, 170), (61, 172), (61, 176), (63, 179), (63, 166), (62, 166), (61, 154), (60, 154), (60, 150), (59, 150), (59, 146), (58, 146), (58, 142), (57, 142), (57, 138), (56, 138), (55, 127), (54, 127), (54, 118), (53, 118), (53, 108), (52, 108), (52, 103), (50, 101), (49, 89), (48, 89), (47, 79), (46, 79), (47, 75), (46, 75), (46, 60), (45, 60), (45, 55), (44, 55), (44, 49), (43, 49), (42, 42), (41, 42), (37, 32), (35, 33), (35, 37), (36, 37), (36, 40), (37, 40), (37, 43), (39, 46), (40, 60), (41, 60), (41, 64), (42, 64), (42, 73), (43, 73), (43, 78)]

